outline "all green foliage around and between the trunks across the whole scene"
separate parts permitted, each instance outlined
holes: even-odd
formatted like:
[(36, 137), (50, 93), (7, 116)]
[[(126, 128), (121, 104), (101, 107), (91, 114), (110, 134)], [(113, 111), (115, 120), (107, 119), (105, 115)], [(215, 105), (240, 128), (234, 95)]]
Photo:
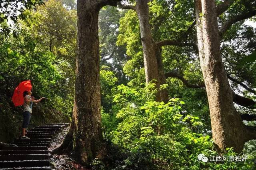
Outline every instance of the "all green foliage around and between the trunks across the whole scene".
[[(4, 1), (4, 10), (8, 10), (6, 4), (13, 2), (18, 1)], [(23, 20), (18, 20), (15, 3), (10, 6), (14, 8), (13, 18), (12, 14), (6, 15), (6, 11), (0, 14), (1, 31), (10, 35), (7, 38), (0, 35), (0, 119), (6, 122), (4, 125), (13, 126), (15, 133), (18, 132), (15, 124), (21, 117), (18, 109), (12, 108), (10, 98), (22, 80), (32, 80), (33, 96), (49, 98), (43, 105), (36, 105), (34, 111), (39, 114), (32, 119), (32, 124), (51, 121), (51, 112), (54, 112), (54, 122), (72, 114), (76, 55), (74, 0), (48, 0), (36, 11), (25, 9), (35, 7), (41, 1), (19, 2), (28, 3), (20, 8)], [(134, 0), (127, 2), (135, 3)], [(222, 0), (216, 3), (222, 3)], [(193, 0), (151, 0), (148, 5), (155, 42), (179, 38), (182, 42), (197, 42), (195, 27), (182, 39), (195, 19)], [(254, 8), (255, 2), (248, 6), (248, 1), (236, 0), (220, 15), (219, 25)], [(8, 17), (14, 23), (18, 22), (19, 32), (10, 30)], [(252, 89), (256, 87), (255, 32), (255, 28), (245, 26), (241, 21), (233, 24), (221, 40), (226, 72)], [(145, 84), (140, 27), (134, 10), (102, 8), (99, 41), (102, 130), (107, 143), (115, 151), (112, 154), (115, 162), (112, 166), (105, 166), (95, 159), (91, 164), (93, 169), (255, 169), (255, 141), (245, 145), (246, 162), (198, 160), (200, 153), (208, 158), (218, 155), (211, 138), (206, 91), (187, 88), (177, 78), (168, 78), (163, 87), (168, 89), (171, 99), (168, 103), (155, 101), (154, 84)], [(161, 54), (164, 72), (180, 74), (189, 84), (204, 83), (198, 56), (192, 47), (164, 46)], [(230, 84), (234, 90), (255, 99), (238, 84)], [(248, 112), (244, 108), (241, 111)], [(4, 125), (1, 129), (7, 132), (2, 128)], [(250, 125), (255, 126), (254, 123)], [(3, 138), (13, 138), (15, 133), (8, 132)], [(226, 155), (236, 153), (227, 148)]]

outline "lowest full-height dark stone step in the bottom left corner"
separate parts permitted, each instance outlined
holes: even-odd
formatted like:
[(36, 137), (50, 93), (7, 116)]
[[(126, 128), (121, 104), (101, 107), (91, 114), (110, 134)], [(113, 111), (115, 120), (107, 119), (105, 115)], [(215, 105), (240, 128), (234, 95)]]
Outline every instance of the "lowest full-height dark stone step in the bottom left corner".
[(50, 166), (49, 160), (13, 160), (13, 161), (0, 161), (1, 168), (14, 168), (14, 167), (40, 167)]

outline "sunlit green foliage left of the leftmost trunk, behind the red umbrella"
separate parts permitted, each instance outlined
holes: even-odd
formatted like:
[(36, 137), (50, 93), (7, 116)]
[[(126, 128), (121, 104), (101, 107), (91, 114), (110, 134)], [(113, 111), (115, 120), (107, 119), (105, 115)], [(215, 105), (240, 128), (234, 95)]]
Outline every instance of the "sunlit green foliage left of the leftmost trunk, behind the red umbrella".
[(26, 10), (22, 15), (26, 17), (19, 20), (19, 34), (1, 37), (1, 101), (10, 100), (19, 82), (31, 80), (36, 99), (44, 96), (49, 99), (46, 107), (71, 116), (76, 12), (50, 0), (37, 11)]

